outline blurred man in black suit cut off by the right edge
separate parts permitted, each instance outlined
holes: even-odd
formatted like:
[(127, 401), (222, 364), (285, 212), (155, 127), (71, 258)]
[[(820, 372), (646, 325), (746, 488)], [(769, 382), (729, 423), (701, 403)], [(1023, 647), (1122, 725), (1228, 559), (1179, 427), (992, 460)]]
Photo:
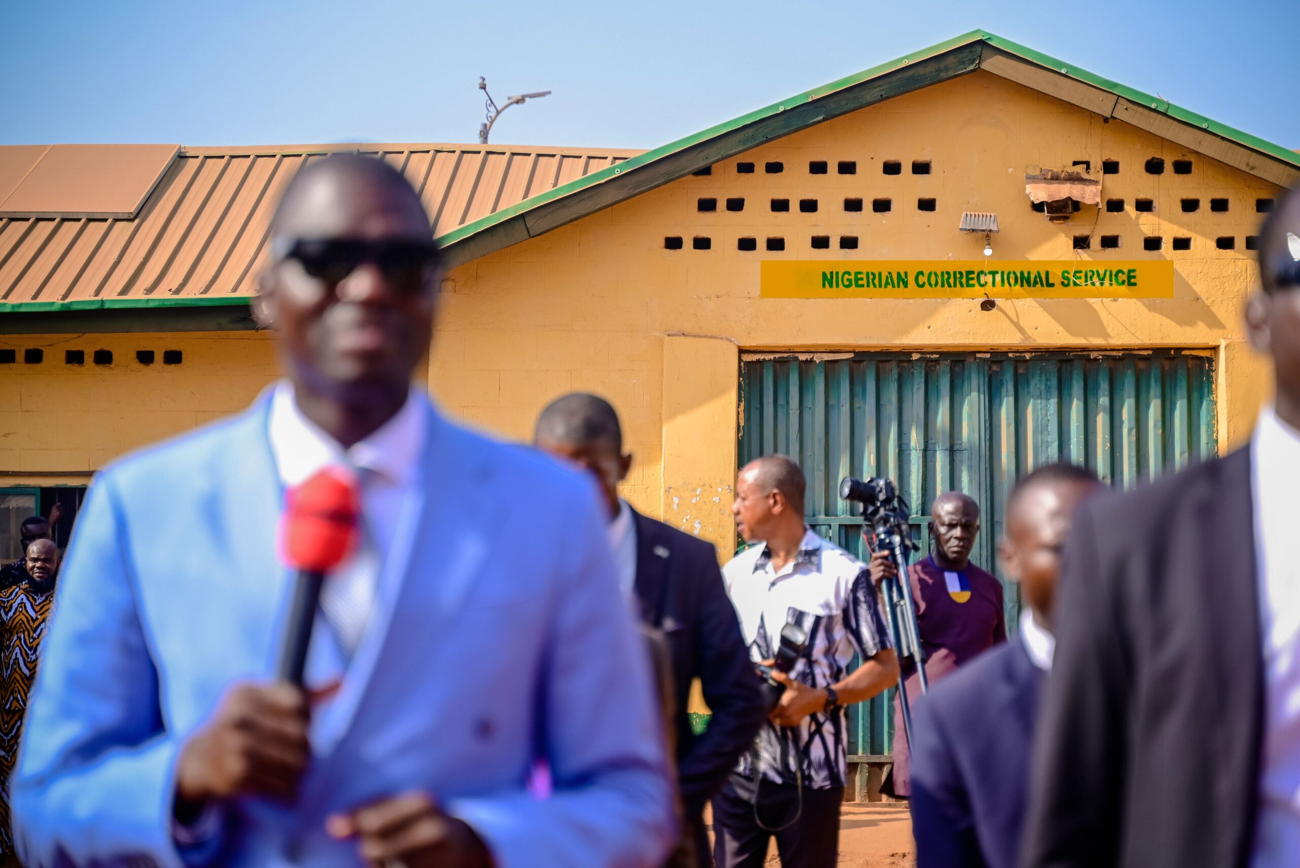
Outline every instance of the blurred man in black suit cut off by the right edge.
[(1260, 233), (1248, 447), (1075, 517), (1022, 865), (1300, 864), (1300, 196)]

